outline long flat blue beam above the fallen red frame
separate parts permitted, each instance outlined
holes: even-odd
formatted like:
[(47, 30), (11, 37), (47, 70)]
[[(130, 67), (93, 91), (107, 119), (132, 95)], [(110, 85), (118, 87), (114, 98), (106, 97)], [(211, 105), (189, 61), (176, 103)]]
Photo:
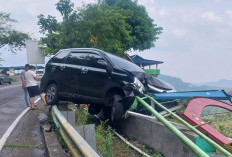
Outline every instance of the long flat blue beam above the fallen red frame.
[(156, 100), (176, 100), (188, 99), (191, 97), (206, 97), (216, 100), (230, 100), (232, 96), (224, 90), (207, 90), (207, 91), (189, 91), (189, 92), (172, 92), (172, 93), (156, 93), (153, 95)]

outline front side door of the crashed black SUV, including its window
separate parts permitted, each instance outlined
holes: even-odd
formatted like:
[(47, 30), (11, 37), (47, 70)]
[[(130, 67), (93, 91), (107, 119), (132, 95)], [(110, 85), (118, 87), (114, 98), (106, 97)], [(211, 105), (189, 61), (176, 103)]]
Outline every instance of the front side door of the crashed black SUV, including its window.
[(100, 54), (90, 52), (83, 73), (82, 94), (93, 98), (103, 98), (109, 81), (108, 62)]

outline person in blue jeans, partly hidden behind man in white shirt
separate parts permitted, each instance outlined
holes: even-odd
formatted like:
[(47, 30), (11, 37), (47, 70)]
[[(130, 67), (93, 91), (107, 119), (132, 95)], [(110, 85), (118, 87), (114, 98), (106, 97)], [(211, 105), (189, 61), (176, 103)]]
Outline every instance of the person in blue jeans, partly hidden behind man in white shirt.
[(24, 67), (24, 70), (21, 72), (22, 88), (23, 88), (24, 99), (25, 99), (27, 107), (30, 107), (30, 102), (29, 102), (29, 95), (27, 91), (25, 73), (29, 70), (29, 66), (30, 66), (29, 64), (26, 64)]

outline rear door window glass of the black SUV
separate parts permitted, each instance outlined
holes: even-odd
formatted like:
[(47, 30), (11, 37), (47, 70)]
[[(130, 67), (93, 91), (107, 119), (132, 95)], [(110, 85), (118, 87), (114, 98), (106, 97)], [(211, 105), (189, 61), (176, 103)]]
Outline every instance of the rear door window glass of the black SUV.
[(88, 53), (86, 52), (71, 52), (66, 60), (67, 64), (85, 65)]

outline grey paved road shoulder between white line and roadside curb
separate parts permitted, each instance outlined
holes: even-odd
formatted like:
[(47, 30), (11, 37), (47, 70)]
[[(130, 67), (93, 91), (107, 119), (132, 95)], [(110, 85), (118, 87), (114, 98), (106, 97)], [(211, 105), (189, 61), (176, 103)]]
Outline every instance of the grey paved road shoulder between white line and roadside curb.
[[(45, 144), (40, 130), (38, 116), (40, 113), (47, 115), (49, 107), (38, 102), (37, 110), (28, 111), (19, 121), (16, 128), (12, 131), (0, 157), (43, 157), (45, 154)], [(22, 146), (25, 147), (22, 147)], [(31, 148), (37, 147), (37, 148)]]

